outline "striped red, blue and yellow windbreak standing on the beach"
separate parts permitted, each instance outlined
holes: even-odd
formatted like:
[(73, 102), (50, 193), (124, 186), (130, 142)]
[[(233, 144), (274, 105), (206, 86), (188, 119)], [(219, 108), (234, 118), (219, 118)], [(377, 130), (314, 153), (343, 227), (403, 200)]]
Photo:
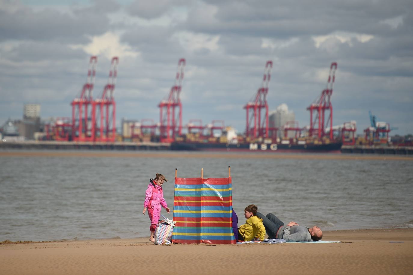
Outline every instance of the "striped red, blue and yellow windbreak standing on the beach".
[(235, 244), (231, 178), (175, 178), (172, 242)]

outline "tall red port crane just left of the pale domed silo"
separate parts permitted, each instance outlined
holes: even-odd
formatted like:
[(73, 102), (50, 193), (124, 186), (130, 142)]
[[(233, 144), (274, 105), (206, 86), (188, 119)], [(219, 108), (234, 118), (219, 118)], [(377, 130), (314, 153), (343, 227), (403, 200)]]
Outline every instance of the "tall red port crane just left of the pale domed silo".
[[(255, 97), (253, 97), (245, 106), (247, 110), (247, 127), (245, 130), (245, 136), (250, 138), (268, 137), (268, 104), (267, 94), (268, 85), (271, 78), (271, 69), (273, 68), (273, 62), (267, 61), (264, 69), (264, 77), (261, 88), (258, 89)], [(252, 110), (251, 115), (249, 110)], [(264, 118), (261, 122), (261, 113), (265, 111)], [(252, 120), (254, 119), (254, 126), (251, 127)]]

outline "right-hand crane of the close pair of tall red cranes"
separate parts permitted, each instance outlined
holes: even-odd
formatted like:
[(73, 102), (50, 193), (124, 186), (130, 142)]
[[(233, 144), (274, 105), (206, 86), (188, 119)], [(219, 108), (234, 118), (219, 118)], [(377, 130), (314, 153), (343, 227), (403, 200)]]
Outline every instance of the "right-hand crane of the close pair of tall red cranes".
[(92, 121), (95, 123), (92, 124), (92, 135), (93, 139), (98, 142), (115, 141), (116, 102), (113, 92), (116, 84), (118, 64), (119, 58), (113, 57), (110, 64), (109, 77), (107, 84), (103, 88), (102, 96), (93, 101)]

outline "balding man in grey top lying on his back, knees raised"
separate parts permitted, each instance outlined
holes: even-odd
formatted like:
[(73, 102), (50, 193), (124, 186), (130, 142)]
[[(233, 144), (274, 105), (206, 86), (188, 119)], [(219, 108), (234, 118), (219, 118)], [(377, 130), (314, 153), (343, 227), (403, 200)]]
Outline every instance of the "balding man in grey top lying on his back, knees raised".
[(262, 219), (268, 239), (285, 239), (287, 242), (316, 242), (323, 237), (323, 232), (316, 225), (312, 228), (298, 225), (295, 222), (284, 225), (273, 213), (264, 216), (257, 212), (256, 216)]

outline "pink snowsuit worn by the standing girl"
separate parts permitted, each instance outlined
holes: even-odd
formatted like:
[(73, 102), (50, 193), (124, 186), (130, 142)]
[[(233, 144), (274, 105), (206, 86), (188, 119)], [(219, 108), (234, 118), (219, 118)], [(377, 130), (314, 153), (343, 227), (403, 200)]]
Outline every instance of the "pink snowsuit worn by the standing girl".
[(152, 183), (148, 185), (143, 206), (148, 208), (148, 215), (151, 220), (150, 230), (155, 231), (161, 216), (161, 206), (164, 208), (168, 207), (164, 199), (164, 190), (162, 190), (161, 186), (156, 184), (153, 186)]

